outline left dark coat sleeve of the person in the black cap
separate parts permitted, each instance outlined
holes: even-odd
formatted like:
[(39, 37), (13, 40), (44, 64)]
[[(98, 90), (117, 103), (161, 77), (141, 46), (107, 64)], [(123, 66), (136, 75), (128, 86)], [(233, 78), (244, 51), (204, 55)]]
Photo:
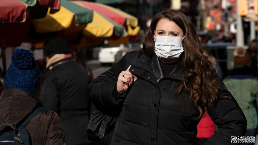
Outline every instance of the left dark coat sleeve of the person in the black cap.
[(54, 74), (45, 76), (39, 97), (44, 108), (54, 112), (59, 111), (59, 91), (57, 89), (57, 82), (58, 78)]

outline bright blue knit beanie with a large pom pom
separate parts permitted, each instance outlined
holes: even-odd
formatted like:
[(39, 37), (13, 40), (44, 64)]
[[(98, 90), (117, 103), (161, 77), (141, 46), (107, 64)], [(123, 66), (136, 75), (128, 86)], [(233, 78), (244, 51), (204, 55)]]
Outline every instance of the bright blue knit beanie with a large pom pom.
[(40, 88), (39, 69), (29, 50), (16, 49), (5, 77), (6, 89), (20, 89), (34, 93)]

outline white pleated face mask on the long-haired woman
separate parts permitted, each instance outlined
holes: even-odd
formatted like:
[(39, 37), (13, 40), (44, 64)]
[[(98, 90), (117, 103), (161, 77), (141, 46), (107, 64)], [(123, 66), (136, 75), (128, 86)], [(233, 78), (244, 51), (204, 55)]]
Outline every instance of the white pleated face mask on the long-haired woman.
[(155, 39), (154, 52), (160, 58), (179, 58), (184, 51), (182, 46), (184, 37), (157, 36)]

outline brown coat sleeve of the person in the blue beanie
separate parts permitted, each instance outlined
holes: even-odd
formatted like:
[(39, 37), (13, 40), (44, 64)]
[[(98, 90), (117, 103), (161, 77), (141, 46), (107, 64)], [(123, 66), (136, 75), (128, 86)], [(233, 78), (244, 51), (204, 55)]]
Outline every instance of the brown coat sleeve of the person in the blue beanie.
[(62, 129), (61, 121), (58, 114), (53, 112), (51, 123), (47, 131), (47, 145), (62, 145), (65, 143), (65, 134)]

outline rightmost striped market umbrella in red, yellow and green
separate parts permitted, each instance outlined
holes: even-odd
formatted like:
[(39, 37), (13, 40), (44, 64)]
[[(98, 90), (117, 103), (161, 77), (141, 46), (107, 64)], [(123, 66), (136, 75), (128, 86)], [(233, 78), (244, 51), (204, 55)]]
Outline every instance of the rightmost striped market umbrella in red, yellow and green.
[(84, 37), (78, 47), (90, 47), (102, 44), (104, 40), (116, 39), (117, 42), (128, 42), (128, 36), (139, 33), (138, 19), (117, 8), (88, 1), (72, 1), (93, 10), (93, 20), (83, 29)]

